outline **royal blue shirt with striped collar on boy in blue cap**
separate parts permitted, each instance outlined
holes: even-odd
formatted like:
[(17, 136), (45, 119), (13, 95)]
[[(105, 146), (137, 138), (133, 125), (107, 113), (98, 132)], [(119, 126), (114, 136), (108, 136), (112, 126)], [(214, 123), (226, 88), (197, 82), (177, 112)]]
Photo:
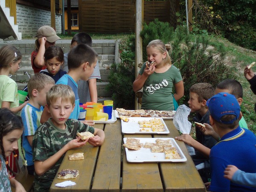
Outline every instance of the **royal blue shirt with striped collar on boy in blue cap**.
[(234, 165), (247, 173), (256, 173), (255, 145), (256, 136), (247, 129), (238, 127), (225, 134), (210, 151), (212, 180), (209, 190), (214, 192), (255, 192), (256, 188), (239, 185), (223, 177), (227, 165)]

